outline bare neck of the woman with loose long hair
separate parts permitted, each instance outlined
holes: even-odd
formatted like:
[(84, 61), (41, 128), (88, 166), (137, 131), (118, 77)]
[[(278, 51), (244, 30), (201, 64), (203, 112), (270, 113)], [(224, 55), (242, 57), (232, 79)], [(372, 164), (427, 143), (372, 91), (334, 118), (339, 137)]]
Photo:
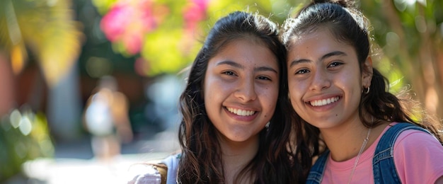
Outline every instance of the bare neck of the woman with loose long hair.
[(231, 142), (226, 139), (220, 141), (226, 183), (234, 183), (234, 178), (257, 154), (258, 139), (257, 134), (246, 142)]

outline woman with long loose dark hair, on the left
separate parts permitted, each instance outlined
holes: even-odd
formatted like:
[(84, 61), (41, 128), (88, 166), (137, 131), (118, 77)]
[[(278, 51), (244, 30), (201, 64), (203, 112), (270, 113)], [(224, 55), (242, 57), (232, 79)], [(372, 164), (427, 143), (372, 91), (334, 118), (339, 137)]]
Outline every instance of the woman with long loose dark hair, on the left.
[(168, 183), (304, 183), (310, 153), (289, 144), (301, 129), (288, 116), (277, 32), (267, 18), (240, 11), (215, 23), (180, 96), (182, 152), (163, 160)]

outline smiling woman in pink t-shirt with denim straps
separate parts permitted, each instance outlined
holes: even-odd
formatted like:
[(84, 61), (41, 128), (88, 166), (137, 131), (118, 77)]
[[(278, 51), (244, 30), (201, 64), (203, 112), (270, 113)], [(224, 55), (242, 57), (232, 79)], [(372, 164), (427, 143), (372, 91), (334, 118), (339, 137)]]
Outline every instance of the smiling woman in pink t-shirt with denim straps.
[(284, 25), (289, 99), (314, 156), (326, 144), (307, 183), (443, 183), (441, 125), (389, 93), (351, 5), (315, 1)]

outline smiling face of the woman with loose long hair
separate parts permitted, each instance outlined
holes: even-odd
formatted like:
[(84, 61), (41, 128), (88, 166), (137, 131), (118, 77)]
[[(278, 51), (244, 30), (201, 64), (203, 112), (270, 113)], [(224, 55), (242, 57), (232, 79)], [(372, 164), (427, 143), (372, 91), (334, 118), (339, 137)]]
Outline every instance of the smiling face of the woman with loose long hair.
[(253, 40), (232, 40), (209, 60), (205, 107), (222, 138), (246, 142), (258, 136), (275, 111), (279, 72), (277, 57)]

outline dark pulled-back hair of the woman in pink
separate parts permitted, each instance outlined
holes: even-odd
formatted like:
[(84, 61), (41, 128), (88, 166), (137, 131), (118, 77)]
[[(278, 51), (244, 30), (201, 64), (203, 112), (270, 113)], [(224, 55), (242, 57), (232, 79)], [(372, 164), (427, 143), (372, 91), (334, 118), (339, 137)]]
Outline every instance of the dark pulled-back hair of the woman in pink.
[[(289, 49), (293, 39), (313, 30), (327, 29), (338, 41), (345, 42), (355, 48), (360, 73), (362, 73), (365, 69), (364, 62), (371, 51), (368, 28), (369, 21), (350, 1), (313, 1), (302, 8), (295, 18), (285, 21), (282, 42)], [(410, 122), (430, 130), (442, 143), (442, 134), (438, 132), (441, 125), (435, 117), (420, 110), (422, 108), (412, 98), (404, 97), (408, 97), (407, 91), (399, 93), (398, 96), (390, 93), (388, 79), (374, 68), (370, 91), (362, 95), (359, 103), (360, 120), (366, 127), (376, 127), (381, 124), (382, 120)], [(376, 121), (365, 119), (367, 114), (375, 117)], [(301, 119), (297, 114), (293, 116)], [(414, 120), (413, 117), (420, 117), (420, 120)], [(318, 138), (320, 131), (304, 120), (301, 121), (303, 122), (302, 126), (305, 127), (305, 133), (309, 135), (304, 144), (311, 145), (314, 148), (313, 155), (318, 155), (318, 141), (321, 141)]]

